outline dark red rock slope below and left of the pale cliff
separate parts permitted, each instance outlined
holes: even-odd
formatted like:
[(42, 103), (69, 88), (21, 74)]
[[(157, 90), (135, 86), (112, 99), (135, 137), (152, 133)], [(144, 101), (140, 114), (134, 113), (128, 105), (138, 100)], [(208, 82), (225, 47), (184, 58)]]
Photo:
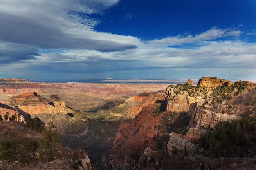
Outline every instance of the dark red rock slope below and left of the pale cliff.
[(157, 136), (159, 117), (154, 117), (153, 112), (157, 104), (150, 104), (142, 108), (134, 119), (122, 121), (117, 132), (112, 155), (140, 155), (147, 146), (157, 145), (153, 137)]

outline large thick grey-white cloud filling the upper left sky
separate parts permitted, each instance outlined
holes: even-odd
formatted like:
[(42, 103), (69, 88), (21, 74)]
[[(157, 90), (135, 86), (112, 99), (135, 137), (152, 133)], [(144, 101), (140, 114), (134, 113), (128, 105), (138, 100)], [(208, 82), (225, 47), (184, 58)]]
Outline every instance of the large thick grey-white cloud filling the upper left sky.
[(39, 49), (92, 49), (122, 51), (136, 48), (137, 38), (94, 31), (99, 20), (88, 14), (101, 13), (118, 0), (0, 2), (0, 40), (28, 44)]

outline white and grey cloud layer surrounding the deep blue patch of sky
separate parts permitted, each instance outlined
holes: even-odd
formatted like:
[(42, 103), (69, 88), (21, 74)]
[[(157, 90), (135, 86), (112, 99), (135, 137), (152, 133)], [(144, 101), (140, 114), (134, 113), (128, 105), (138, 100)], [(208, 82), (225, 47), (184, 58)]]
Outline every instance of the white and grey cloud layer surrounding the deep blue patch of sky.
[(91, 16), (104, 15), (118, 1), (1, 0), (0, 75), (42, 80), (256, 76), (256, 43), (243, 41), (240, 27), (154, 40), (96, 31), (101, 21)]

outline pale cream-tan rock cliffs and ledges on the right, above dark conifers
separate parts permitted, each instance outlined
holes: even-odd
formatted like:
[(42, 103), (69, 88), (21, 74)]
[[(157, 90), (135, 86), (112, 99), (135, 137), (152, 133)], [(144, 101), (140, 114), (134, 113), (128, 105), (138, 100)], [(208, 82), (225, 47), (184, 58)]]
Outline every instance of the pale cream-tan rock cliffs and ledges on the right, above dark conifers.
[[(241, 82), (238, 82), (238, 84)], [(204, 86), (208, 89), (207, 91), (200, 89), (200, 86)], [(230, 93), (232, 97), (229, 99), (214, 98), (214, 88), (218, 86), (225, 87), (232, 86), (234, 92), (225, 92), (222, 90), (222, 93)], [(233, 86), (231, 82), (223, 79), (218, 79), (215, 77), (204, 77), (199, 79), (198, 85), (192, 87), (193, 90), (200, 92), (191, 93), (191, 89), (183, 88), (185, 91), (178, 91), (177, 87), (170, 87), (166, 90), (166, 98), (168, 99), (167, 110), (170, 111), (185, 111), (188, 114), (191, 114), (191, 120), (188, 125), (188, 132), (186, 135), (181, 137), (180, 134), (171, 133), (168, 142), (168, 149), (170, 152), (173, 151), (173, 148), (176, 147), (179, 150), (186, 147), (187, 150), (195, 152), (195, 146), (191, 145), (191, 139), (198, 139), (202, 133), (205, 133), (208, 128), (214, 128), (215, 125), (220, 121), (229, 121), (231, 122), (234, 119), (240, 119), (242, 115), (254, 114), (256, 109), (256, 84), (249, 83), (247, 89), (243, 90), (241, 96), (236, 96), (235, 93), (239, 91), (239, 87), (243, 85)], [(231, 89), (231, 88), (230, 88)], [(178, 93), (175, 93), (177, 92)], [(189, 95), (190, 94), (190, 95)], [(200, 95), (200, 99), (195, 100), (195, 95)], [(189, 98), (193, 98), (193, 102), (189, 102)], [(245, 99), (246, 98), (246, 99)], [(254, 104), (248, 105), (247, 100), (255, 101)], [(199, 102), (200, 101), (200, 102)], [(183, 108), (183, 109), (178, 109)], [(191, 109), (188, 109), (191, 108)], [(193, 146), (191, 148), (191, 146)]]

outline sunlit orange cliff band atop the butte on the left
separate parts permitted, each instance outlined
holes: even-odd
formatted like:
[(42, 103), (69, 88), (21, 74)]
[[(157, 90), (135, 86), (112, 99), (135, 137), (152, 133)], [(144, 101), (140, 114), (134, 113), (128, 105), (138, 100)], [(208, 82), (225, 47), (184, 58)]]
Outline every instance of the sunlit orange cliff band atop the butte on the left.
[(54, 102), (37, 95), (35, 92), (22, 93), (17, 96), (10, 97), (2, 101), (3, 104), (11, 106), (13, 108), (20, 108), (21, 110), (34, 114), (45, 114), (45, 113), (62, 113), (65, 114), (65, 102), (57, 100)]

